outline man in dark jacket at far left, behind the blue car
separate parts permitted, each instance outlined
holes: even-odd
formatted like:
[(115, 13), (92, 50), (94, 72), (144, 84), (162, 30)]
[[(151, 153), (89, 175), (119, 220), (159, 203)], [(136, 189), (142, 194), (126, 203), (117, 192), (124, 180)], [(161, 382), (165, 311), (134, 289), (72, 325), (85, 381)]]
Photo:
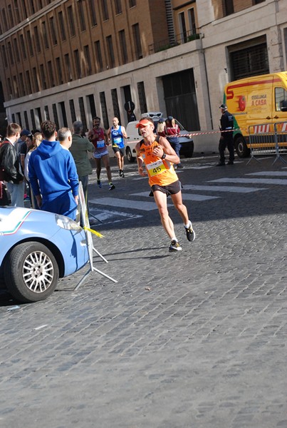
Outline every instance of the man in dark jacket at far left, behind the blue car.
[(24, 207), (24, 176), (19, 170), (20, 165), (15, 149), (20, 133), (21, 126), (18, 123), (10, 123), (6, 138), (0, 147), (0, 180), (6, 181), (11, 205), (14, 207)]

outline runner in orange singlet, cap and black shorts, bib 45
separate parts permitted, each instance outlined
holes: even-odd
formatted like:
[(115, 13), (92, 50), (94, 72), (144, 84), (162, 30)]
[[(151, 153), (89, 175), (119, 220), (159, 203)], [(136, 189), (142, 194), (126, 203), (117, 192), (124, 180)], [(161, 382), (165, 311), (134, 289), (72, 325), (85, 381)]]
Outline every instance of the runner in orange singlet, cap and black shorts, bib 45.
[[(187, 239), (190, 242), (194, 240), (195, 233), (192, 229), (192, 222), (189, 220), (187, 207), (182, 203), (182, 185), (173, 167), (174, 163), (179, 163), (179, 157), (165, 137), (155, 137), (155, 126), (152, 119), (141, 118), (136, 128), (140, 128), (143, 137), (143, 140), (135, 146), (139, 174), (149, 177), (162, 225), (172, 240), (169, 245), (169, 252), (181, 251), (182, 248), (174, 233), (174, 224), (167, 210), (167, 196), (170, 195), (172, 198), (174, 207), (177, 208), (182, 218)], [(144, 163), (147, 172), (144, 170)]]

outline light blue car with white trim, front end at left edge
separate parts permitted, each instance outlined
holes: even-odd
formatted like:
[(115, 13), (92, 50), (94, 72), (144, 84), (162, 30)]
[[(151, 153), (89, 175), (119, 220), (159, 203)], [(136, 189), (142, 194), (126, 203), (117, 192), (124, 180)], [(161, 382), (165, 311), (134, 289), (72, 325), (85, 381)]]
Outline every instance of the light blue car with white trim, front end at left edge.
[(0, 273), (21, 302), (46, 299), (88, 262), (85, 232), (65, 215), (0, 207)]

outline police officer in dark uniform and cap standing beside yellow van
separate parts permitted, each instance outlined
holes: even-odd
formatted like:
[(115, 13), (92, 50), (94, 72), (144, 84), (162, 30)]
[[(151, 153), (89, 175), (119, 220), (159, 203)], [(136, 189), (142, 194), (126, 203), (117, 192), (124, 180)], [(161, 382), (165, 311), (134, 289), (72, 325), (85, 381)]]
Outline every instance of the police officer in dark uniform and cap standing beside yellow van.
[[(227, 132), (221, 132), (221, 137), (219, 140), (219, 155), (220, 160), (219, 163), (216, 164), (216, 166), (223, 166), (225, 165), (225, 149), (228, 148), (229, 151), (229, 161), (228, 165), (234, 164), (234, 143), (233, 143), (233, 132), (234, 129), (234, 117), (229, 113), (227, 110), (227, 106), (225, 104), (221, 104), (219, 106), (221, 109), (221, 118), (220, 118), (220, 131), (227, 131)], [(230, 130), (230, 131), (229, 131)]]

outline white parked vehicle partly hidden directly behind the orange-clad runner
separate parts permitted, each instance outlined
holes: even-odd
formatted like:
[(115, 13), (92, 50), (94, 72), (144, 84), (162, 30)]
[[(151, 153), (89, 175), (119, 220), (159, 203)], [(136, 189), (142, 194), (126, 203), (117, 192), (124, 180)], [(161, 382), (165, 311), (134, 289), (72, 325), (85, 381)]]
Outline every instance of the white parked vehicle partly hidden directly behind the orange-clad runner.
[[(160, 118), (162, 118), (162, 113), (160, 112), (150, 112), (150, 113), (144, 113), (142, 116), (147, 116), (152, 118), (152, 120), (155, 123), (155, 130), (157, 129), (157, 123)], [(133, 121), (127, 123), (126, 131), (127, 131), (127, 139), (125, 140), (125, 154), (127, 156), (127, 161), (129, 162), (135, 162), (136, 159), (136, 153), (135, 153), (135, 146), (138, 141), (142, 140), (142, 136), (140, 135), (140, 129), (135, 128), (138, 121)], [(182, 135), (188, 134), (189, 131), (186, 131), (184, 127), (182, 126), (179, 121), (175, 119), (175, 122), (180, 128), (180, 133)], [(193, 151), (194, 151), (194, 142), (192, 138), (189, 137), (179, 137), (179, 142), (181, 144), (180, 156), (185, 156), (186, 158), (192, 158)]]

